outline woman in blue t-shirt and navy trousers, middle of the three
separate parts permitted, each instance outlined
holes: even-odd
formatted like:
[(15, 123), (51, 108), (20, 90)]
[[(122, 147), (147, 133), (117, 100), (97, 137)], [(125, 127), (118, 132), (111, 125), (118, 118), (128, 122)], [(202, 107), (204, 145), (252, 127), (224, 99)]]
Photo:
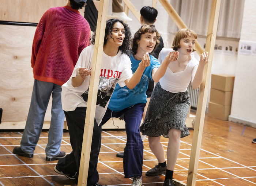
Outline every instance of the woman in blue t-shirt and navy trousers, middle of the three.
[(140, 122), (144, 107), (147, 103), (146, 90), (148, 88), (148, 79), (155, 82), (165, 74), (171, 61), (178, 58), (178, 52), (166, 56), (160, 66), (159, 61), (150, 54), (157, 48), (160, 34), (154, 26), (144, 24), (135, 33), (132, 43), (132, 72), (134, 73), (141, 61), (148, 62), (150, 66), (146, 67), (140, 82), (135, 88), (129, 90), (126, 86), (120, 87), (118, 84), (114, 89), (110, 99), (108, 109), (102, 119), (102, 125), (111, 117), (119, 118), (124, 114), (125, 130), (127, 134), (127, 143), (124, 151), (124, 177), (133, 177), (132, 185), (142, 185), (142, 165), (143, 165), (143, 143), (140, 137)]

